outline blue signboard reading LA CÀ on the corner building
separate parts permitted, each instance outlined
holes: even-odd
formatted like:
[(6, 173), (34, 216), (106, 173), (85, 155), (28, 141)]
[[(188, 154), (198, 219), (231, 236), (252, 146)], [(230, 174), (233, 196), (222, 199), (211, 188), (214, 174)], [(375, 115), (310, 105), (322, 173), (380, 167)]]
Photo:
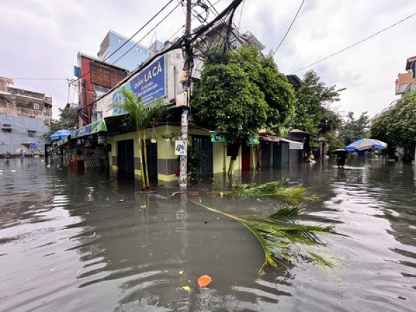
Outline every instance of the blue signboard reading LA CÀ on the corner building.
[[(155, 101), (166, 95), (164, 57), (155, 60), (146, 69), (141, 71), (135, 78), (125, 83), (113, 94), (112, 103), (119, 103), (123, 95), (119, 91), (125, 89), (133, 92), (137, 97), (141, 96), (144, 104)], [(120, 110), (114, 110), (113, 114), (121, 114)]]

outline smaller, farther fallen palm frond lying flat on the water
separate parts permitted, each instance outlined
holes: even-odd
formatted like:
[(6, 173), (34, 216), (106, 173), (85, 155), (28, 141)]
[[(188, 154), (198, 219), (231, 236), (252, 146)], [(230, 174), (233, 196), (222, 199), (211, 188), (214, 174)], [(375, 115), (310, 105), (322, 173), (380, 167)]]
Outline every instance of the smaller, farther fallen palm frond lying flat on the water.
[(216, 191), (222, 196), (234, 197), (270, 197), (284, 200), (293, 205), (304, 200), (316, 200), (315, 196), (308, 195), (304, 187), (288, 187), (288, 181), (274, 181), (265, 184), (243, 184), (233, 191)]

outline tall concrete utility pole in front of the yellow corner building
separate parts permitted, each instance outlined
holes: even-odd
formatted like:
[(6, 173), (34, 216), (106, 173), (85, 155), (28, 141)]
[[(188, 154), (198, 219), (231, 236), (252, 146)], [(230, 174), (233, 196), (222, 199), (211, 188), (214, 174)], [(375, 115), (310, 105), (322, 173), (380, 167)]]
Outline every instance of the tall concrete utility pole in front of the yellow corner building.
[[(185, 36), (191, 34), (191, 0), (187, 0), (187, 24), (185, 28)], [(185, 40), (185, 57), (184, 57), (184, 72), (186, 77), (184, 79), (184, 89), (187, 92), (187, 103), (186, 105), (189, 107), (189, 102), (191, 98), (191, 43), (189, 42), (189, 37)], [(181, 121), (181, 128), (180, 128), (180, 135), (181, 140), (188, 142), (188, 114), (189, 110), (184, 109), (182, 112), (182, 121)], [(181, 190), (187, 189), (188, 184), (188, 151), (186, 155), (180, 156), (180, 178), (179, 178), (179, 187)]]

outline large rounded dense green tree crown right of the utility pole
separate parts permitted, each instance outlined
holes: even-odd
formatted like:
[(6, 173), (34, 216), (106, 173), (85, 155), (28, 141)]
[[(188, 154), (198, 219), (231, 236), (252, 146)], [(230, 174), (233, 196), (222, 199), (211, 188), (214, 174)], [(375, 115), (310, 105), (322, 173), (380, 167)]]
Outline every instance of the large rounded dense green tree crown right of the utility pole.
[(272, 59), (245, 47), (205, 63), (192, 103), (199, 123), (245, 141), (260, 128), (284, 123), (295, 97)]

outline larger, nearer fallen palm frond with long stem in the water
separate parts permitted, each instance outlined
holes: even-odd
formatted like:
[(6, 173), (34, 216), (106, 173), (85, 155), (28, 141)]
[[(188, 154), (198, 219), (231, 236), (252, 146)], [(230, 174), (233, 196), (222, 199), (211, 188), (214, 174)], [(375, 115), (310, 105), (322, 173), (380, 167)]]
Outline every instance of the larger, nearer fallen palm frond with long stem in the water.
[[(271, 214), (268, 217), (259, 216), (241, 216), (237, 217), (232, 214), (227, 214), (223, 211), (208, 207), (200, 202), (190, 200), (195, 205), (214, 211), (217, 214), (222, 214), (232, 218), (245, 227), (247, 227), (252, 234), (259, 241), (261, 248), (264, 252), (263, 265), (259, 269), (259, 274), (263, 269), (270, 265), (273, 268), (277, 268), (279, 265), (287, 266), (287, 262), (292, 261), (290, 255), (291, 248), (294, 243), (304, 245), (317, 245), (320, 243), (318, 237), (315, 235), (317, 232), (333, 232), (332, 227), (320, 227), (311, 225), (286, 225), (286, 218), (293, 218), (299, 216), (301, 209), (299, 206), (283, 207)], [(324, 257), (317, 254), (304, 254), (304, 257), (315, 261), (322, 266), (328, 266), (331, 268), (331, 261), (324, 259)], [(320, 261), (317, 261), (319, 259)]]

